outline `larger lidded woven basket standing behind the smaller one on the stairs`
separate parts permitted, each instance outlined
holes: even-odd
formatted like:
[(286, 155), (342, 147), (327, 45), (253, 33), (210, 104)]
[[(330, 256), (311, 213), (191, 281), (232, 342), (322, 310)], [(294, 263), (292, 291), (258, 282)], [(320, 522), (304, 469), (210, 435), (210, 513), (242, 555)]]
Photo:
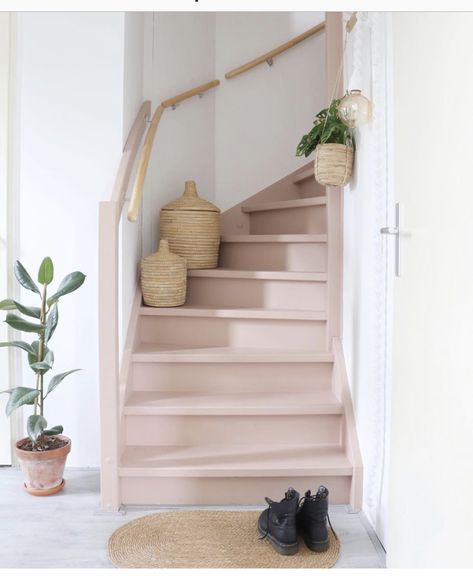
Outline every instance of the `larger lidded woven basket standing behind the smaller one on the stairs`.
[(184, 194), (163, 206), (159, 236), (173, 253), (187, 259), (188, 269), (214, 269), (220, 246), (220, 210), (200, 198), (195, 182), (186, 182)]

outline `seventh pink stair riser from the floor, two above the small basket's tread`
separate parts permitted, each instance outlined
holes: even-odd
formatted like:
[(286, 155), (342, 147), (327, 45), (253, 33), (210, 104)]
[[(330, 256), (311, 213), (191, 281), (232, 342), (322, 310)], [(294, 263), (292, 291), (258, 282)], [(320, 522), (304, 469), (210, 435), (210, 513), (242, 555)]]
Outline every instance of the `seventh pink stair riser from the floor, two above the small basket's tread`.
[(250, 213), (250, 234), (325, 234), (325, 205)]

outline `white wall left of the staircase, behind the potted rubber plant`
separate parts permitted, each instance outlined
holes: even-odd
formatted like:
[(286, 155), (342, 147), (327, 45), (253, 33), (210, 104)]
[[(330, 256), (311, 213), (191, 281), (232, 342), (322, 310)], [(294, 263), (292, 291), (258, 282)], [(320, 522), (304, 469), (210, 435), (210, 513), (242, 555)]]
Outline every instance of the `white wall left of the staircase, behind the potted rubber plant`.
[[(36, 274), (50, 255), (56, 283), (84, 286), (60, 301), (55, 372), (80, 367), (46, 403), (72, 437), (71, 466), (99, 464), (98, 202), (110, 196), (123, 141), (122, 13), (18, 15), (20, 256)], [(24, 294), (26, 300), (27, 294)], [(33, 302), (31, 296), (28, 300)], [(24, 385), (31, 373), (24, 369)]]

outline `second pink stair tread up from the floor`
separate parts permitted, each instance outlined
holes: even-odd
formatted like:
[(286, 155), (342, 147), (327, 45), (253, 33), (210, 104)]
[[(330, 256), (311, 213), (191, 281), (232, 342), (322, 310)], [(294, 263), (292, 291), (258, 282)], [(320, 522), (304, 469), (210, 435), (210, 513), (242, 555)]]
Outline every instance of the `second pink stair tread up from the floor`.
[(287, 415), (341, 414), (342, 404), (328, 389), (295, 392), (132, 392), (124, 413), (130, 415)]

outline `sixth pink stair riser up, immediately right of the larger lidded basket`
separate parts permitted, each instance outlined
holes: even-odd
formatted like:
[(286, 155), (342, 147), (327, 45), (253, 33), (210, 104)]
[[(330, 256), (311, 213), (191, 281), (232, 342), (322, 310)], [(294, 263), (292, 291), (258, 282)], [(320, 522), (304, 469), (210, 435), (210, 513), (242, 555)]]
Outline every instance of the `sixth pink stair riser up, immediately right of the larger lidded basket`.
[(219, 266), (252, 271), (325, 273), (327, 243), (222, 243)]

